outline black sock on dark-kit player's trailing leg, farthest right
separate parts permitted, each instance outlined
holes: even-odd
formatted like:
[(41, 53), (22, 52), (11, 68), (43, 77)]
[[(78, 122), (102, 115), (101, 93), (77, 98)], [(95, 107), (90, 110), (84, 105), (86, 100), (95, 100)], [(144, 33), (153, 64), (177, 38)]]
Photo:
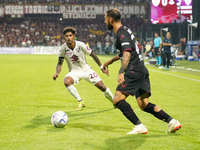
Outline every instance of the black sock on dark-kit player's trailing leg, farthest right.
[(146, 106), (146, 108), (144, 109), (145, 112), (151, 113), (152, 115), (154, 115), (156, 118), (163, 120), (167, 123), (169, 123), (173, 118), (170, 117), (167, 113), (165, 113), (163, 110), (159, 111), (159, 112), (155, 112), (154, 111), (154, 107), (156, 105), (152, 104), (152, 103), (148, 103), (148, 105)]

